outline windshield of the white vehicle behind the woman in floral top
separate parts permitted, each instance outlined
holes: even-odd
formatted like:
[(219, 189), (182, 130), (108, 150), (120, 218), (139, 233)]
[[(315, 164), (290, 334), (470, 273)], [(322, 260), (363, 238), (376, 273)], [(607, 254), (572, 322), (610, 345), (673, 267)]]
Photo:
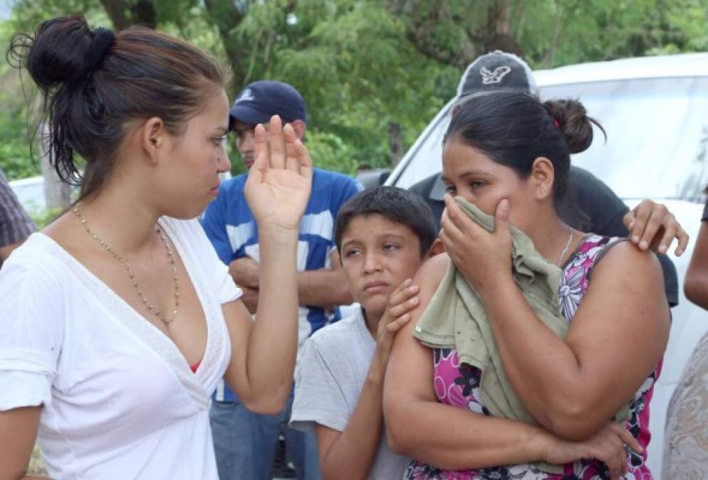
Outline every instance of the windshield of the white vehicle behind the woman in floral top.
[[(708, 183), (708, 78), (611, 80), (541, 87), (541, 98), (578, 98), (603, 125), (573, 164), (620, 198), (701, 201)], [(442, 168), (444, 115), (399, 178), (404, 188)]]

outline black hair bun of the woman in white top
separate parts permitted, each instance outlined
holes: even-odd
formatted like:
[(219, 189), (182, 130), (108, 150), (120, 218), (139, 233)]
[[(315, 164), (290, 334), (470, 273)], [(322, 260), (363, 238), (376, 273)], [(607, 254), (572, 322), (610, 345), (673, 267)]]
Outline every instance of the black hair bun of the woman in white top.
[(33, 36), (14, 36), (8, 60), (25, 66), (37, 85), (48, 91), (84, 75), (91, 39), (83, 17), (53, 18), (41, 23)]

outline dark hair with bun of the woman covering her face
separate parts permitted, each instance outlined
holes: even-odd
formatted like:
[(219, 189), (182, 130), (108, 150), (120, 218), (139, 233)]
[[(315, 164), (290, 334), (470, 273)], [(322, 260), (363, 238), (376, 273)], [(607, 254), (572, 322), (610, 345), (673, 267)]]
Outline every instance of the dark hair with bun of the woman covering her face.
[(593, 124), (578, 100), (548, 100), (516, 90), (496, 90), (469, 96), (452, 115), (443, 142), (455, 137), (484, 152), (520, 178), (531, 174), (539, 156), (553, 163), (556, 207), (568, 190), (571, 154), (593, 143)]

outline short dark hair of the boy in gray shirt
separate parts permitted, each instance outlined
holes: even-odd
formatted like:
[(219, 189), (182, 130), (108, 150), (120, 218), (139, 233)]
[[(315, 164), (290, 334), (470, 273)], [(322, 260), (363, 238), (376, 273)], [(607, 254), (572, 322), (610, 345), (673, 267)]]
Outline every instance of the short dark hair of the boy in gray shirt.
[(420, 195), (394, 186), (378, 186), (357, 193), (339, 209), (334, 227), (338, 252), (341, 253), (342, 235), (351, 220), (375, 213), (413, 230), (420, 240), (421, 257), (437, 238), (432, 210)]

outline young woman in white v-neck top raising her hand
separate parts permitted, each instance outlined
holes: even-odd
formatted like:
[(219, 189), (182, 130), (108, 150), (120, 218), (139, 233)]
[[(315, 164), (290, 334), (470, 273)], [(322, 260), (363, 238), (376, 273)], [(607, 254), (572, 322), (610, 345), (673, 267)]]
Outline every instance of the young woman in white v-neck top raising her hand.
[(252, 321), (195, 220), (230, 166), (219, 65), (162, 33), (114, 36), (80, 16), (15, 36), (9, 56), (41, 91), (53, 166), (81, 191), (0, 272), (0, 477), (21, 478), (37, 440), (53, 478), (217, 479), (217, 381), (262, 413), (290, 393), (308, 153), (278, 117), (267, 136), (256, 128)]

